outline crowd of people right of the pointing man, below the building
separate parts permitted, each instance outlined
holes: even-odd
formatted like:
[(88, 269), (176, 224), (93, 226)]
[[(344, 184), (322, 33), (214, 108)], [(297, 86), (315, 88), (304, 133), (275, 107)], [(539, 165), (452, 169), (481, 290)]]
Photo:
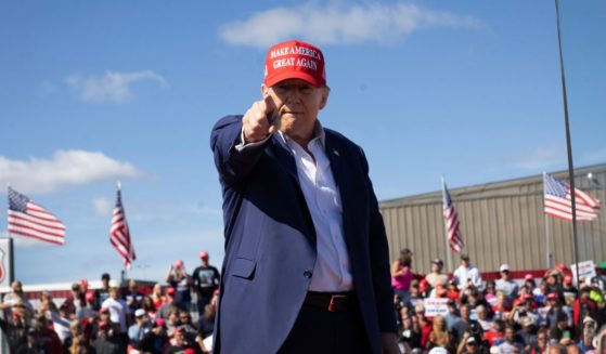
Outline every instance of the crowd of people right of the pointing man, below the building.
[(573, 284), (558, 264), (541, 277), (513, 279), (502, 264), (500, 278), (482, 280), (469, 257), (452, 275), (443, 261), (415, 274), (413, 253), (403, 249), (391, 265), (391, 285), (404, 353), (594, 353), (601, 352), (606, 319), (604, 279)]

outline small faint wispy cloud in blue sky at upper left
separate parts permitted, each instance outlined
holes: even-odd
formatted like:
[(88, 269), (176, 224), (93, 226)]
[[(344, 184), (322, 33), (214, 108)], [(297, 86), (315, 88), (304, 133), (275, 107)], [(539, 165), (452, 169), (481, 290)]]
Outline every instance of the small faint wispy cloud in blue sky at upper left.
[(152, 80), (167, 86), (166, 79), (154, 71), (117, 73), (105, 71), (104, 76), (72, 75), (65, 82), (86, 102), (124, 103), (132, 99), (131, 86), (139, 81)]

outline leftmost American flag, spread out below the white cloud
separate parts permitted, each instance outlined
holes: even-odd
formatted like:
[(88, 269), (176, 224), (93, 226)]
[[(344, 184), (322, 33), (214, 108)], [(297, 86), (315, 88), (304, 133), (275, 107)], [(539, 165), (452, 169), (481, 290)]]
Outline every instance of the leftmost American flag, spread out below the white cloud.
[(65, 244), (65, 225), (34, 200), (9, 187), (9, 234)]

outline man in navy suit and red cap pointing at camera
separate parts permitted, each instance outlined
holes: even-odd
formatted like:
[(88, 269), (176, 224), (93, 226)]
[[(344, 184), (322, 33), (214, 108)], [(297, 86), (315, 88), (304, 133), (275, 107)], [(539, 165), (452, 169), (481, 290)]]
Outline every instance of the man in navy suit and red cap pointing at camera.
[(318, 120), (322, 52), (272, 47), (261, 93), (210, 139), (225, 236), (215, 353), (399, 353), (366, 159)]

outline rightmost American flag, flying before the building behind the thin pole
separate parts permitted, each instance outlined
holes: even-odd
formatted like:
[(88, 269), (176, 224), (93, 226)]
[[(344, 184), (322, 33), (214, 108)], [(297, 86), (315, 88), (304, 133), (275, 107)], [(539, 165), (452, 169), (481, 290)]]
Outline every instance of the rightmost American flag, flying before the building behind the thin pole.
[[(560, 182), (549, 174), (543, 178), (544, 213), (562, 220), (572, 220), (572, 200), (570, 199), (570, 185)], [(575, 199), (578, 221), (592, 221), (599, 214), (598, 199), (575, 188)]]

